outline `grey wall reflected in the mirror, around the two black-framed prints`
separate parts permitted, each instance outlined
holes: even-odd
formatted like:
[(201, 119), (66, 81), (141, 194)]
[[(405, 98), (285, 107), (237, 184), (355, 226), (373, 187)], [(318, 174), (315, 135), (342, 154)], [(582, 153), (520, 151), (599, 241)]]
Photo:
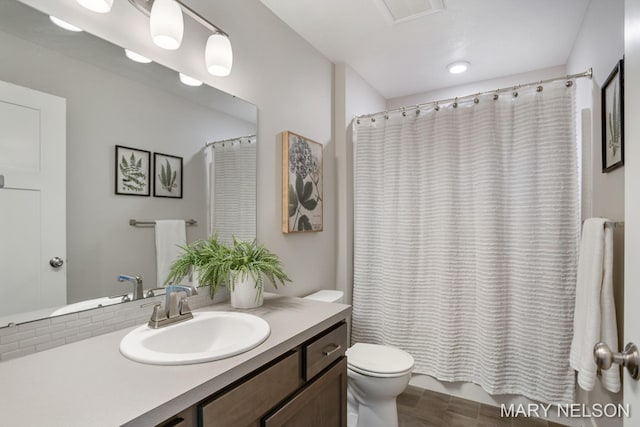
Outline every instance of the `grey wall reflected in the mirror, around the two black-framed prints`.
[[(67, 99), (68, 302), (130, 291), (121, 273), (154, 288), (153, 228), (129, 219), (194, 218), (188, 240), (204, 238), (202, 147), (255, 125), (1, 32), (0, 57), (0, 80)], [(116, 144), (183, 157), (183, 198), (115, 195)]]

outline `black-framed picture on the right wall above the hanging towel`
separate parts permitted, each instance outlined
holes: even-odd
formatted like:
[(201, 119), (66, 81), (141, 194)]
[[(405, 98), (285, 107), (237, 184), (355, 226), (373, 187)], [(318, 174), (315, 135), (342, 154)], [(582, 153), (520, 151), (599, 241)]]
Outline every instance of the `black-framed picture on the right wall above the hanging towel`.
[(624, 59), (602, 85), (602, 172), (624, 164)]

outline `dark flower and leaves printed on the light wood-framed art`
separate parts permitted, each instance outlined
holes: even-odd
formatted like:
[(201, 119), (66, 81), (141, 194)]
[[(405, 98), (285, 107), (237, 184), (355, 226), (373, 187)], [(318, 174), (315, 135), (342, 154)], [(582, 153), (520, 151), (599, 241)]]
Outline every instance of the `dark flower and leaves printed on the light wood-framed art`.
[[(297, 135), (291, 135), (293, 144), (289, 147), (289, 172), (296, 175), (295, 186), (289, 185), (289, 218), (298, 231), (312, 230), (309, 217), (301, 208), (311, 212), (322, 201), (318, 159), (311, 152), (309, 143)], [(315, 191), (314, 191), (315, 190)]]

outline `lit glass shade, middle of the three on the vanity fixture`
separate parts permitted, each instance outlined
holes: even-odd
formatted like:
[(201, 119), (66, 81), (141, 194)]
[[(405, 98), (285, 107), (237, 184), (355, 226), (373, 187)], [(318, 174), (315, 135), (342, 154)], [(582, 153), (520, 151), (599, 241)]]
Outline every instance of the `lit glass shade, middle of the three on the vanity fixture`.
[(155, 0), (151, 7), (151, 37), (163, 49), (175, 50), (182, 43), (182, 8), (174, 0)]

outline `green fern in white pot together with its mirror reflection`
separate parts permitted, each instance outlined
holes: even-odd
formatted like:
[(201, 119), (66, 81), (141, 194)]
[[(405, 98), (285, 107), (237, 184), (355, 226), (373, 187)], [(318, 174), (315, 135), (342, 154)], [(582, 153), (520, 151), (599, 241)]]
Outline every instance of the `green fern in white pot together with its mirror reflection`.
[(231, 293), (236, 308), (259, 307), (263, 302), (264, 277), (275, 287), (291, 281), (277, 255), (256, 240), (233, 239), (231, 247), (218, 242), (217, 236), (183, 247), (184, 253), (174, 262), (167, 282), (180, 281), (195, 273), (201, 286), (209, 286), (211, 296), (221, 284)]

